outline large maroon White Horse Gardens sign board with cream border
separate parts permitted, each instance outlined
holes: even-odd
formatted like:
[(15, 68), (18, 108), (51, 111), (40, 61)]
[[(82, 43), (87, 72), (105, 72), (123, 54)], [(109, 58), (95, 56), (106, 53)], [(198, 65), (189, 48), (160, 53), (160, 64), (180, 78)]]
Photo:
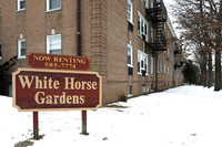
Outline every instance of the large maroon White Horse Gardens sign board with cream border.
[(95, 72), (19, 69), (12, 75), (13, 106), (23, 112), (97, 109), (102, 81)]

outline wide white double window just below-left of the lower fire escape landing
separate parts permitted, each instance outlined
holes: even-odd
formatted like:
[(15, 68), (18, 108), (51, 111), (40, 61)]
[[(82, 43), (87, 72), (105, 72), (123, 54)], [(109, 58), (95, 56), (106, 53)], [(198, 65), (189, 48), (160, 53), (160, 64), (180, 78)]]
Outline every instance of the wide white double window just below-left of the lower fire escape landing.
[(138, 50), (138, 74), (148, 75), (148, 54)]

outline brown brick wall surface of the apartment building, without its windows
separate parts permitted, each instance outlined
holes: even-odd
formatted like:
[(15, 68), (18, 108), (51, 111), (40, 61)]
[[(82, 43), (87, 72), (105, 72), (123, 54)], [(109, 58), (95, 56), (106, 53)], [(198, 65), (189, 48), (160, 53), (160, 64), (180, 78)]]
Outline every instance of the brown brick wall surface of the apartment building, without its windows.
[[(91, 71), (99, 72), (103, 77), (103, 104), (120, 101), (128, 95), (128, 86), (132, 85), (132, 95), (141, 95), (142, 86), (149, 87), (149, 93), (158, 84), (158, 91), (173, 86), (171, 74), (159, 73), (155, 83), (151, 75), (151, 56), (149, 56), (149, 75), (138, 75), (138, 50), (145, 49), (144, 41), (138, 35), (138, 10), (145, 17), (144, 6), (140, 0), (133, 3), (133, 32), (128, 29), (127, 0), (82, 0), (81, 1), (81, 36), (82, 55), (91, 62)], [(47, 35), (61, 34), (62, 54), (77, 55), (77, 3), (73, 0), (62, 0), (61, 10), (46, 12), (46, 0), (26, 1), (26, 10), (17, 11), (17, 2), (2, 0), (2, 14), (0, 17), (2, 42), (2, 62), (18, 54), (18, 40), (27, 39), (27, 54), (30, 52), (47, 53)], [(149, 21), (149, 27), (152, 22)], [(149, 29), (150, 30), (150, 29)], [(169, 30), (169, 29), (168, 29)], [(172, 35), (172, 34), (170, 34)], [(151, 38), (149, 36), (151, 40)], [(128, 74), (127, 55), (128, 44), (133, 48), (133, 75)], [(170, 55), (159, 53), (159, 61), (173, 70), (173, 46), (168, 44)], [(18, 60), (12, 69), (27, 66), (27, 60)], [(11, 72), (12, 72), (11, 71)], [(162, 70), (163, 71), (163, 70)], [(180, 71), (178, 71), (180, 73)], [(179, 82), (178, 82), (179, 83)]]

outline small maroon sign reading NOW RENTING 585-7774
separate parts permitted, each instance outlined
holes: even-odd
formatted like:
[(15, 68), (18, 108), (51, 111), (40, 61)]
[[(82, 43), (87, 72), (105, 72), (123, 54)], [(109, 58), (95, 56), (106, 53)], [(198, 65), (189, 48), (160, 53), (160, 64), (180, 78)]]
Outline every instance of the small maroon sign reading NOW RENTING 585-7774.
[(88, 71), (90, 67), (90, 61), (84, 56), (69, 56), (43, 53), (29, 54), (28, 64), (33, 69)]

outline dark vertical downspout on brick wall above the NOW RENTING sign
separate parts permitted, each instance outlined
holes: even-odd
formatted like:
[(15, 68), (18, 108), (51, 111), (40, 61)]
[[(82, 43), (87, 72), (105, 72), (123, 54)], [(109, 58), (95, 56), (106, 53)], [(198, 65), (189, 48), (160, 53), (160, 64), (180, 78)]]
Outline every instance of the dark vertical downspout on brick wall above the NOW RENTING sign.
[(82, 55), (81, 49), (81, 0), (77, 0), (77, 55)]

